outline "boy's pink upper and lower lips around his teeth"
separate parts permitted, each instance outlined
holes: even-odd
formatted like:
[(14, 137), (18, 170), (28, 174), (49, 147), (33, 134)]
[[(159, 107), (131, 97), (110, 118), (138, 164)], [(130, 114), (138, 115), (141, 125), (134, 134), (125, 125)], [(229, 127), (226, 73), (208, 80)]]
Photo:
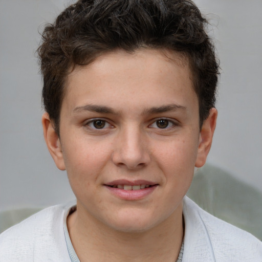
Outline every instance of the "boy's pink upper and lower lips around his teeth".
[[(124, 190), (117, 187), (112, 187), (114, 185), (149, 185), (150, 187), (139, 189), (139, 190)], [(154, 192), (157, 187), (159, 186), (158, 183), (147, 181), (147, 180), (135, 180), (135, 181), (129, 181), (129, 180), (114, 180), (109, 183), (104, 184), (104, 186), (110, 190), (110, 192), (115, 195), (115, 197), (120, 198), (122, 200), (141, 200), (150, 195), (152, 192)]]

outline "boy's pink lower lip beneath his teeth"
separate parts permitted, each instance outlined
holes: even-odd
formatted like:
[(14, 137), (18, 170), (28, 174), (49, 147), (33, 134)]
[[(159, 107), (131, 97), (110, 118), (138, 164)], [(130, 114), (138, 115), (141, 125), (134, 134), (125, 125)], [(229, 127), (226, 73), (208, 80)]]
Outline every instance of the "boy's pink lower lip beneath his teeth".
[(124, 189), (119, 189), (117, 187), (111, 187), (111, 186), (106, 186), (111, 193), (113, 193), (116, 197), (123, 199), (123, 200), (140, 200), (147, 195), (151, 194), (153, 191), (156, 190), (157, 185), (155, 186), (150, 186), (144, 189), (139, 189), (139, 190), (124, 190)]

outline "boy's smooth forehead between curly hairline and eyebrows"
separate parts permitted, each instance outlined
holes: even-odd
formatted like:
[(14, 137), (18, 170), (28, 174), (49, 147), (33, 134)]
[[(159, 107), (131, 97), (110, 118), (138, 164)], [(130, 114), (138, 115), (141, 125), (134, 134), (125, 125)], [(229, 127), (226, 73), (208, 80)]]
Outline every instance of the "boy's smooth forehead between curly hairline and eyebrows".
[(117, 100), (120, 107), (125, 99), (139, 100), (143, 96), (148, 96), (144, 102), (149, 106), (149, 98), (156, 103), (156, 94), (162, 105), (173, 104), (179, 97), (187, 100), (187, 93), (191, 98), (196, 96), (187, 57), (163, 49), (132, 53), (116, 50), (100, 55), (88, 65), (77, 66), (68, 76), (65, 90), (67, 106), (97, 104), (100, 99), (103, 103)]

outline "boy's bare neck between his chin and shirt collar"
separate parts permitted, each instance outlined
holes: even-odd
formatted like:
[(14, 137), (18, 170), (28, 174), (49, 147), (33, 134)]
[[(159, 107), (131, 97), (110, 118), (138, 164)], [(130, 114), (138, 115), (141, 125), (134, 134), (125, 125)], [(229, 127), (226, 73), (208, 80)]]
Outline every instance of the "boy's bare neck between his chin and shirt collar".
[(144, 232), (122, 232), (89, 217), (80, 210), (68, 217), (68, 230), (81, 262), (174, 262), (183, 240), (181, 205), (161, 224)]

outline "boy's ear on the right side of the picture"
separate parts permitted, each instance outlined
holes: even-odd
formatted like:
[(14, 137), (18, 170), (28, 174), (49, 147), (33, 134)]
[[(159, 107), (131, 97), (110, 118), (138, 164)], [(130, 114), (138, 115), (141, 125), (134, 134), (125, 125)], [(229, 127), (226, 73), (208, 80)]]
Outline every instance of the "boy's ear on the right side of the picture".
[(208, 118), (203, 122), (200, 136), (198, 156), (195, 161), (195, 167), (201, 167), (206, 163), (207, 155), (211, 148), (217, 118), (217, 110), (213, 107), (209, 111)]

